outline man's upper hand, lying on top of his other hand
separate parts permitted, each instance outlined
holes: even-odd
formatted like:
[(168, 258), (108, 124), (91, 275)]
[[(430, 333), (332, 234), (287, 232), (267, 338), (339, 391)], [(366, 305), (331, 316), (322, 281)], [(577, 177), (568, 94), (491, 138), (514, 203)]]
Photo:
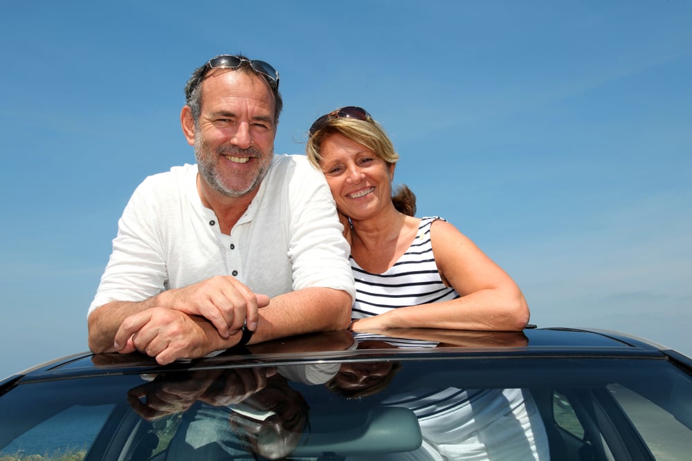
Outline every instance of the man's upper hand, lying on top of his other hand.
[(258, 308), (269, 303), (269, 297), (256, 294), (233, 276), (215, 276), (185, 288), (168, 290), (155, 299), (156, 305), (190, 315), (199, 315), (215, 326), (219, 335), (235, 335), (244, 324), (257, 328)]

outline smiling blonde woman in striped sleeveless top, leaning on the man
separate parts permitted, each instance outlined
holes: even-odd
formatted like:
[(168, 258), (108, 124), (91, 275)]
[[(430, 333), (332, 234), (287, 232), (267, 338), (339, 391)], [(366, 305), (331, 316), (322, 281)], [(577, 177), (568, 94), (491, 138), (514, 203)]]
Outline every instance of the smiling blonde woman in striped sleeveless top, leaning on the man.
[(444, 219), (415, 218), (408, 187), (392, 196), (399, 156), (364, 109), (318, 118), (307, 156), (325, 173), (351, 245), (354, 331), (526, 326), (529, 308), (507, 273)]

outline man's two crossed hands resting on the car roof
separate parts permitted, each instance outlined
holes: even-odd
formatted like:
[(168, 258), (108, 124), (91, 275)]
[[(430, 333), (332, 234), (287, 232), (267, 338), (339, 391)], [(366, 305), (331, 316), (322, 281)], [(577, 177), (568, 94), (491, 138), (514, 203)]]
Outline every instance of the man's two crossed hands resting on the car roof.
[[(149, 308), (122, 321), (113, 347), (122, 354), (138, 350), (161, 365), (233, 346), (244, 324), (257, 328), (258, 310), (269, 304), (233, 276), (214, 276), (149, 301)], [(234, 335), (235, 343), (228, 341)]]

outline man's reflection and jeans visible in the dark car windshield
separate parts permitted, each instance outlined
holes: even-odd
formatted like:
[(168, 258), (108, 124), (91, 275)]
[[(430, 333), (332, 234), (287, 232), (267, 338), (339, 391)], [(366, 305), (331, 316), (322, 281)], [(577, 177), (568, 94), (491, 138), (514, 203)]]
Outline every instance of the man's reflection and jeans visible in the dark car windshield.
[(167, 449), (167, 459), (180, 460), (247, 453), (282, 458), (298, 444), (309, 411), (272, 367), (158, 375), (131, 389), (127, 399), (146, 420), (183, 413)]

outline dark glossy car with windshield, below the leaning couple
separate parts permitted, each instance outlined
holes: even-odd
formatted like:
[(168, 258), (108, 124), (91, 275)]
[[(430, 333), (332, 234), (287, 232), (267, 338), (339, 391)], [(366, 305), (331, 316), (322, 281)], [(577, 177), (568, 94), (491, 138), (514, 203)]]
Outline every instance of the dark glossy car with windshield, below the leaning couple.
[(0, 460), (677, 460), (692, 360), (615, 332), (325, 332), (0, 383)]

